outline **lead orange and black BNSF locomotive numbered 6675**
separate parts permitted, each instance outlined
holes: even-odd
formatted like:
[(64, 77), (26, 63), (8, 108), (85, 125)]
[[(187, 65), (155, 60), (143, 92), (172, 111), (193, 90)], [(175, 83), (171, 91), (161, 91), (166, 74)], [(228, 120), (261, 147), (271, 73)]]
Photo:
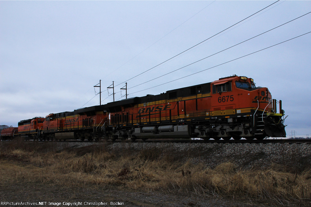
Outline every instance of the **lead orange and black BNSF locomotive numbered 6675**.
[[(284, 110), (253, 79), (230, 76), (159, 95), (111, 102), (106, 139), (285, 137)], [(286, 117), (285, 117), (286, 118)]]

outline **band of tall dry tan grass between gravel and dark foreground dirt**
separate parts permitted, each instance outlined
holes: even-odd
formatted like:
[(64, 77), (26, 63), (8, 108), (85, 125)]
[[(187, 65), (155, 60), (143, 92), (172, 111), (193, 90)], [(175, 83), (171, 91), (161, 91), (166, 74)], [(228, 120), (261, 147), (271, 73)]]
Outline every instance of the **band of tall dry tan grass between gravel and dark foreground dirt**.
[(311, 169), (290, 173), (273, 165), (266, 170), (242, 170), (231, 162), (209, 169), (157, 148), (120, 154), (109, 153), (105, 144), (57, 151), (55, 143), (11, 143), (0, 147), (2, 181), (210, 194), (272, 205), (311, 201)]

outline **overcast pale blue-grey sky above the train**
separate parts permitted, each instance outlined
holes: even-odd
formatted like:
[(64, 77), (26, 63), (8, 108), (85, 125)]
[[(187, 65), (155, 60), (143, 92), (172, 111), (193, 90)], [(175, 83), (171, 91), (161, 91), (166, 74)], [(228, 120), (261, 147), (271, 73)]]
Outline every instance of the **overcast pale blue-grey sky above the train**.
[[(122, 82), (273, 2), (0, 1), (0, 125), (17, 126), (23, 119), (98, 105), (99, 95), (94, 96), (99, 88), (95, 92), (93, 86), (100, 79), (102, 104), (113, 101), (108, 96), (112, 89), (106, 91), (112, 81), (115, 99), (121, 100)], [(296, 136), (311, 136), (311, 33), (231, 61), (311, 32), (311, 13), (273, 29), (310, 11), (311, 1), (276, 2), (128, 80), (128, 97), (156, 95), (232, 74), (247, 76), (282, 100), (288, 136), (294, 130)], [(227, 61), (231, 62), (214, 67)], [(205, 71), (167, 83), (201, 70)], [(162, 83), (167, 84), (151, 88)]]

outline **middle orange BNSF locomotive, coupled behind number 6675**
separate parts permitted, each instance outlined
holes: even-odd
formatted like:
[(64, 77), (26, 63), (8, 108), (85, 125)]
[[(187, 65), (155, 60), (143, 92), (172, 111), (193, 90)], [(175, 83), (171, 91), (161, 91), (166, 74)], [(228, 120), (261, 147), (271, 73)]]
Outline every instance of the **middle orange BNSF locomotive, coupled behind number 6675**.
[(102, 128), (107, 117), (102, 105), (49, 114), (45, 117), (42, 137), (44, 140), (98, 140), (103, 136)]

